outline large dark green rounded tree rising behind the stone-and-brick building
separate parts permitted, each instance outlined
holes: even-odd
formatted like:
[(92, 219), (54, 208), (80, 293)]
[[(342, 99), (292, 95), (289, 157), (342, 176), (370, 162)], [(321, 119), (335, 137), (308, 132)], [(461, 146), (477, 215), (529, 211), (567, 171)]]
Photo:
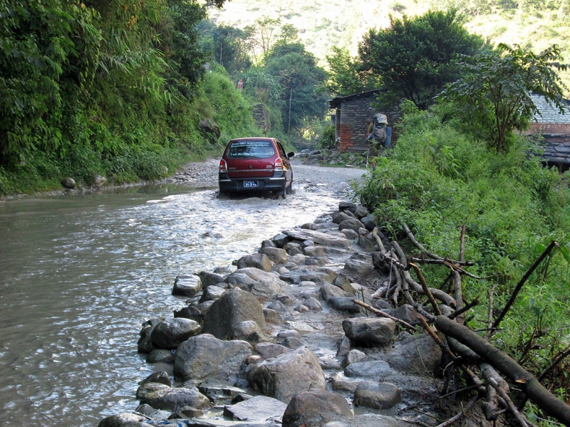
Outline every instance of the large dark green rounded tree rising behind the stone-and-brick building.
[(363, 37), (358, 55), (360, 69), (381, 79), (388, 102), (407, 98), (425, 108), (445, 83), (459, 77), (455, 55), (473, 55), (483, 46), (482, 38), (468, 33), (451, 9), (415, 18), (390, 16), (388, 28), (371, 29)]

